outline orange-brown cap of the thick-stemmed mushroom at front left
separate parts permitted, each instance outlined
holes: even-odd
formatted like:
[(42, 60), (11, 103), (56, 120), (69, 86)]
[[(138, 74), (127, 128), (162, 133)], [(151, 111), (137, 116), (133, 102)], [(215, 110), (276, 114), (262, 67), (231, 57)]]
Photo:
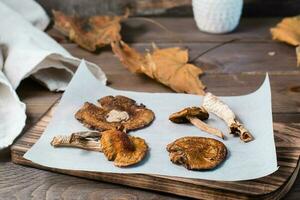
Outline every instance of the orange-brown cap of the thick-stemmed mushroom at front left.
[(118, 167), (127, 167), (140, 162), (148, 150), (145, 140), (118, 130), (104, 131), (100, 143), (106, 158), (114, 161), (114, 165)]

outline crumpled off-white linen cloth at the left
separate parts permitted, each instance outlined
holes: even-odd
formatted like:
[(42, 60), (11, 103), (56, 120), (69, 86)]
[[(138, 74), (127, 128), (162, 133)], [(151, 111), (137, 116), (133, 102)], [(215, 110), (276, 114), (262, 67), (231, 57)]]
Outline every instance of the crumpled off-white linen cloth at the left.
[[(12, 144), (22, 131), (26, 106), (15, 89), (32, 76), (51, 91), (62, 91), (81, 62), (43, 30), (49, 18), (33, 0), (0, 0), (0, 149)], [(92, 73), (106, 83), (95, 64)]]

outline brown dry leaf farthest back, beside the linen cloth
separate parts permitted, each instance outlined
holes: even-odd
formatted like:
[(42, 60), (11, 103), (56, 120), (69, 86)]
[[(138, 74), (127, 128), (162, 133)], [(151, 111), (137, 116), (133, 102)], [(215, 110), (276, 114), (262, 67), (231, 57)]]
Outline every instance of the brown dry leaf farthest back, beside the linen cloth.
[(126, 19), (129, 11), (123, 16), (92, 16), (79, 18), (67, 16), (60, 11), (53, 11), (54, 27), (70, 40), (88, 51), (109, 45), (121, 40), (120, 22)]

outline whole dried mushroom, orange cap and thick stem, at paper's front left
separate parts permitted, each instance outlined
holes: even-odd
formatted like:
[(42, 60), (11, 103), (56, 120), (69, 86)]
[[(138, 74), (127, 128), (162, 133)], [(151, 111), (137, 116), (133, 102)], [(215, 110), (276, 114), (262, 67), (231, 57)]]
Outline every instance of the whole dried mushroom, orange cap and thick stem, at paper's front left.
[(148, 150), (145, 140), (117, 130), (108, 130), (102, 133), (87, 131), (73, 133), (71, 136), (56, 136), (51, 145), (103, 152), (105, 157), (114, 161), (114, 165), (118, 167), (126, 167), (140, 162)]

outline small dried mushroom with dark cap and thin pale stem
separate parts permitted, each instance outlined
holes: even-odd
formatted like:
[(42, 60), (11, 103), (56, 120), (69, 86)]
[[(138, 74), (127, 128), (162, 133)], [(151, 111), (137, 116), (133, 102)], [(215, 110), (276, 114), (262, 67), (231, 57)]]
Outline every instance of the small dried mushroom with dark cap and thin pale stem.
[(203, 107), (190, 107), (173, 113), (170, 115), (169, 120), (174, 123), (190, 122), (200, 130), (224, 139), (224, 135), (220, 130), (210, 127), (208, 124), (202, 121), (208, 119), (208, 117), (209, 114)]

